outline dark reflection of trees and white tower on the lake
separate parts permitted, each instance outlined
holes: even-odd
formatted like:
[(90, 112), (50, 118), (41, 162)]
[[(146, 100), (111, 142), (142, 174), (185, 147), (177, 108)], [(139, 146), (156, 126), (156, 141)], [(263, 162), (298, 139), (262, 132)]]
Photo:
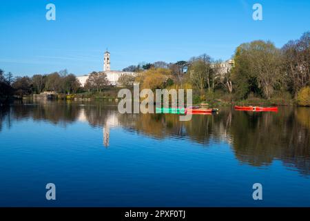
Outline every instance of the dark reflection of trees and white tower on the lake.
[(125, 114), (115, 104), (44, 102), (14, 104), (0, 109), (0, 133), (3, 126), (22, 119), (47, 121), (59, 126), (86, 122), (103, 129), (103, 146), (112, 146), (113, 127), (165, 139), (188, 139), (207, 147), (225, 142), (236, 158), (252, 166), (266, 166), (281, 160), (288, 169), (310, 175), (310, 108), (281, 108), (279, 113), (236, 112), (222, 108), (218, 115), (194, 115), (180, 122), (178, 115)]

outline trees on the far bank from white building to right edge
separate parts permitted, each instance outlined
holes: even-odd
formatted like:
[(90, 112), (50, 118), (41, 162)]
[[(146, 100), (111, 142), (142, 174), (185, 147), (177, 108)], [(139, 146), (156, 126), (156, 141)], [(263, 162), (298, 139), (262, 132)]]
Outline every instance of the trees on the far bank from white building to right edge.
[[(262, 40), (240, 44), (232, 59), (234, 66), (227, 71), (223, 61), (207, 54), (174, 64), (157, 61), (123, 70), (140, 73), (135, 81), (144, 88), (196, 88), (202, 98), (220, 90), (237, 100), (251, 94), (264, 99), (286, 94), (310, 105), (310, 32), (282, 48)], [(120, 79), (123, 85), (132, 81), (132, 77)]]

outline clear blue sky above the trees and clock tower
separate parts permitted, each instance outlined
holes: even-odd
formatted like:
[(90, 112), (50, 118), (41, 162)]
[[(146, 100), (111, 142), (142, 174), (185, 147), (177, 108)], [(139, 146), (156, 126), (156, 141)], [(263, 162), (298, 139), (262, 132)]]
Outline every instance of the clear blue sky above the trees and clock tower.
[[(56, 21), (45, 19), (54, 3)], [(252, 19), (261, 3), (263, 21)], [(0, 68), (14, 75), (67, 68), (83, 75), (141, 61), (175, 62), (203, 53), (229, 59), (256, 39), (281, 47), (310, 30), (310, 1), (6, 0), (0, 1)]]

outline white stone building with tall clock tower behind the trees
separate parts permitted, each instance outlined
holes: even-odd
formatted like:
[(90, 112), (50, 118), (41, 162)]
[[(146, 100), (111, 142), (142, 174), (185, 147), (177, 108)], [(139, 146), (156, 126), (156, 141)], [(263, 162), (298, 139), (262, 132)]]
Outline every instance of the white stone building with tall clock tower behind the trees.
[[(111, 70), (111, 61), (110, 61), (110, 52), (106, 51), (103, 57), (103, 71), (100, 73), (105, 73), (107, 75), (107, 80), (111, 86), (118, 85), (118, 79), (122, 75), (133, 75), (136, 76), (134, 72), (120, 71), (120, 70)], [(83, 75), (80, 77), (76, 77), (82, 86), (85, 86), (85, 83), (88, 79), (89, 75)]]

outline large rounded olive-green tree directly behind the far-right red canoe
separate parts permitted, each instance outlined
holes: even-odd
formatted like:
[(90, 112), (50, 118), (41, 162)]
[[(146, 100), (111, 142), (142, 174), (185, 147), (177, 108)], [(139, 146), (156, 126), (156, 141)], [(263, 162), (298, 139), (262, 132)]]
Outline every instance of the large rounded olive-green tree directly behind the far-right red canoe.
[(280, 51), (270, 41), (252, 41), (238, 46), (234, 60), (233, 79), (239, 98), (261, 91), (270, 99), (280, 81)]

